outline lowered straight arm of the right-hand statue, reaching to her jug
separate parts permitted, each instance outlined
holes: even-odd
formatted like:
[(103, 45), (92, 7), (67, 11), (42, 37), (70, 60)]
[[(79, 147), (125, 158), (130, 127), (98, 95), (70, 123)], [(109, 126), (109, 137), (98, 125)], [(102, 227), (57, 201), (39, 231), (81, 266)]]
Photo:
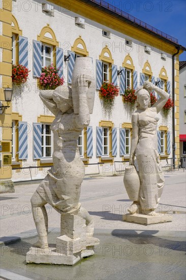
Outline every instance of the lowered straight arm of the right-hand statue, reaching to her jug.
[(138, 114), (132, 114), (132, 127), (133, 127), (133, 136), (131, 141), (131, 152), (130, 152), (130, 160), (129, 164), (134, 165), (134, 156), (137, 144), (139, 142), (139, 128), (138, 128)]

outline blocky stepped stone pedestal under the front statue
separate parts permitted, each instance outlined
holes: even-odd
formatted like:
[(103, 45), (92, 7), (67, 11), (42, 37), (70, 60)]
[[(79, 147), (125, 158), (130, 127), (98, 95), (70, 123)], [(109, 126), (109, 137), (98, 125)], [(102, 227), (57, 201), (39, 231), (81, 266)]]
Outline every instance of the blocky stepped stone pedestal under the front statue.
[(85, 220), (74, 214), (61, 215), (60, 234), (56, 247), (31, 247), (26, 254), (26, 263), (73, 265), (94, 255), (94, 247), (100, 243), (98, 238), (86, 237)]

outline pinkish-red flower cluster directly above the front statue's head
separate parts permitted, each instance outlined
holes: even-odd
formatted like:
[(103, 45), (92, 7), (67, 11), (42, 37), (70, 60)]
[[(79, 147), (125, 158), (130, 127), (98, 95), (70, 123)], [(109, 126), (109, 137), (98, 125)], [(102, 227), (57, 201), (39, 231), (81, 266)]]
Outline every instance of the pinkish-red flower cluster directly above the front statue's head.
[(45, 66), (42, 68), (40, 78), (38, 78), (38, 87), (40, 90), (55, 90), (57, 87), (64, 84), (64, 78), (58, 75), (58, 69), (53, 66)]

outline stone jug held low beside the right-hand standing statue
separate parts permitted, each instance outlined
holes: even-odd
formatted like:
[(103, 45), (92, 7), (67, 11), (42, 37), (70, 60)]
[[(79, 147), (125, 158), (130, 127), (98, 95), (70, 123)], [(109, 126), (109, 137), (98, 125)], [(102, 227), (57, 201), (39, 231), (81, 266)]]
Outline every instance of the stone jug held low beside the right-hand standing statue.
[(126, 166), (123, 182), (129, 199), (132, 201), (139, 200), (140, 179), (134, 165)]

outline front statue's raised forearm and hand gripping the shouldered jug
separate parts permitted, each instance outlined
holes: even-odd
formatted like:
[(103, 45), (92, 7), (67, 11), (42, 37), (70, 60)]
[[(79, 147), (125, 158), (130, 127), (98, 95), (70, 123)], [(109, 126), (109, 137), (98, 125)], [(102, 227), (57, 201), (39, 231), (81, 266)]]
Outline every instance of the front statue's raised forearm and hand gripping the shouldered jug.
[(79, 97), (79, 114), (76, 117), (76, 123), (79, 127), (86, 127), (90, 123), (90, 114), (87, 102), (88, 83), (90, 78), (80, 75), (77, 78), (77, 89)]

